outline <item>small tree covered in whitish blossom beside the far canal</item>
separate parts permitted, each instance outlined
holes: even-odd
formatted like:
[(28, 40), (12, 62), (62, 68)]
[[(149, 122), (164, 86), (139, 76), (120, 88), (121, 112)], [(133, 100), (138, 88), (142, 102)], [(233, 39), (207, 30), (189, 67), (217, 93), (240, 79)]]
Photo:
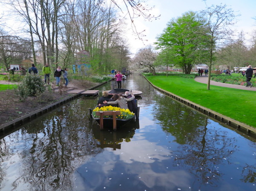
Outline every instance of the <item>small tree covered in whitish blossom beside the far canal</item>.
[(150, 70), (150, 72), (153, 75), (155, 75), (156, 57), (157, 53), (153, 51), (152, 46), (148, 46), (146, 48), (141, 48), (132, 58), (131, 62), (134, 65), (134, 67), (147, 67)]

